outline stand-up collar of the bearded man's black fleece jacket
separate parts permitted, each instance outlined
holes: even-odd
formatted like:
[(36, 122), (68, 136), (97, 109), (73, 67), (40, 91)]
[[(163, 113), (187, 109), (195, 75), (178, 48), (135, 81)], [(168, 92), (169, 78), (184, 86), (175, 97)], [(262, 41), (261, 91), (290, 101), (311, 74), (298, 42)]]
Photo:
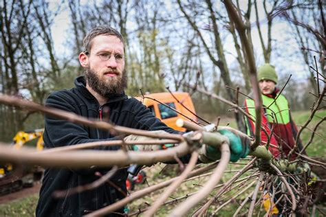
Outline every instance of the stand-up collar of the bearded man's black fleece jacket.
[[(92, 95), (86, 88), (85, 76), (78, 76), (77, 78), (75, 78), (74, 83), (75, 83), (76, 89), (78, 89), (78, 91), (80, 91), (80, 93), (82, 93), (85, 96), (85, 98), (87, 98), (89, 100), (94, 100), (97, 102), (94, 95)], [(109, 95), (109, 100), (107, 101), (107, 103), (117, 102), (117, 101), (126, 100), (126, 99), (128, 99), (128, 97), (127, 97), (127, 95), (125, 95), (124, 92), (121, 94), (111, 94), (111, 95)]]

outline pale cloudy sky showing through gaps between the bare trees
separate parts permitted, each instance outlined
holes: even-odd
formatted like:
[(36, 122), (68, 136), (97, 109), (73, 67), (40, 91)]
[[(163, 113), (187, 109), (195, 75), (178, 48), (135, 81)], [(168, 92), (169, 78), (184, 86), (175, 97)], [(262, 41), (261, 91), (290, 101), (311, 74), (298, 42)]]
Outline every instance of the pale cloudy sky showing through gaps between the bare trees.
[[(81, 4), (83, 5), (86, 1), (81, 1)], [(246, 9), (246, 1), (240, 1), (241, 7)], [(67, 4), (67, 3), (66, 3)], [(217, 7), (223, 7), (222, 3), (217, 3)], [(58, 7), (58, 1), (51, 1), (50, 8), (52, 10), (57, 10)], [(263, 16), (263, 8), (261, 2), (259, 2), (259, 16), (261, 20), (261, 29), (263, 31), (263, 35), (266, 36), (267, 28), (266, 23), (267, 20)], [(254, 54), (256, 57), (257, 65), (263, 64), (263, 55), (261, 51), (261, 44), (259, 41), (259, 36), (257, 33), (257, 27), (254, 25), (255, 22), (255, 15), (254, 11), (252, 11), (252, 41), (254, 42)], [(304, 81), (307, 79), (309, 71), (307, 71), (307, 66), (303, 64), (303, 59), (301, 56), (293, 56), (289, 54), (293, 54), (293, 51), (300, 52), (299, 47), (296, 45), (296, 41), (293, 37), (291, 37), (290, 33), (290, 25), (287, 23), (280, 21), (280, 19), (275, 19), (275, 23), (272, 28), (272, 39), (273, 39), (273, 49), (282, 49), (281, 55), (284, 54), (284, 56), (280, 56), (280, 52), (274, 52), (272, 51), (272, 58), (271, 63), (275, 65), (276, 71), (278, 71), (279, 74), (282, 76), (290, 75), (292, 73), (294, 80), (298, 81)], [(54, 25), (52, 26), (52, 34), (54, 38), (54, 47), (56, 48), (56, 54), (59, 56), (65, 56), (69, 54), (71, 49), (67, 49), (67, 38), (71, 38), (71, 36), (68, 36), (69, 32), (69, 25), (70, 23), (70, 17), (69, 17), (69, 11), (67, 5), (65, 5), (61, 12), (56, 16), (54, 20)], [(235, 47), (232, 42), (232, 36), (228, 36), (226, 38), (226, 43), (224, 44), (224, 49), (227, 50), (227, 52), (230, 52), (231, 54), (227, 54), (227, 61), (229, 63), (235, 62)]]

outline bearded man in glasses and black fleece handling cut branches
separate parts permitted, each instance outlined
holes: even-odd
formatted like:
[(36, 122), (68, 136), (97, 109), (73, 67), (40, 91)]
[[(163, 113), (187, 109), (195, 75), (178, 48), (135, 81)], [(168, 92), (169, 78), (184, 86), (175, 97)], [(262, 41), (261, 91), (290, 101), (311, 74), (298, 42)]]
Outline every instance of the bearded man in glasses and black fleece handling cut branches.
[[(52, 93), (46, 105), (62, 109), (90, 119), (109, 120), (111, 123), (141, 130), (164, 130), (168, 133), (180, 133), (169, 128), (160, 119), (155, 118), (149, 109), (135, 98), (127, 98), (124, 89), (127, 87), (127, 73), (124, 70), (124, 42), (121, 34), (108, 26), (95, 27), (84, 39), (84, 49), (78, 56), (80, 65), (85, 68), (85, 76), (75, 80), (75, 86), (70, 90), (61, 90)], [(230, 141), (235, 137), (230, 135)], [(108, 130), (100, 130), (74, 124), (63, 119), (45, 117), (45, 131), (43, 139), (46, 148), (72, 146), (94, 141), (108, 141), (119, 139), (111, 135)], [(241, 140), (236, 138), (235, 146), (242, 146)], [(231, 155), (232, 146), (231, 144)], [(248, 144), (237, 154), (246, 157)], [(120, 146), (99, 147), (97, 150), (118, 150)], [(216, 161), (212, 156), (219, 150), (210, 148), (200, 155), (200, 159)], [(210, 156), (206, 156), (210, 154)], [(241, 155), (239, 155), (241, 154)], [(188, 161), (188, 156), (180, 158)], [(231, 156), (232, 159), (232, 156)], [(235, 160), (237, 160), (235, 159)], [(69, 194), (69, 189), (87, 185), (97, 181), (97, 173), (105, 174), (110, 168), (87, 168), (70, 170), (69, 168), (50, 168), (45, 170), (43, 185), (40, 191), (39, 203), (36, 207), (36, 216), (84, 216), (97, 209), (115, 203), (127, 195), (126, 168), (120, 168), (110, 179), (110, 183), (92, 189)], [(64, 198), (54, 198), (57, 190), (67, 190)], [(124, 209), (116, 210), (110, 216), (121, 216)]]

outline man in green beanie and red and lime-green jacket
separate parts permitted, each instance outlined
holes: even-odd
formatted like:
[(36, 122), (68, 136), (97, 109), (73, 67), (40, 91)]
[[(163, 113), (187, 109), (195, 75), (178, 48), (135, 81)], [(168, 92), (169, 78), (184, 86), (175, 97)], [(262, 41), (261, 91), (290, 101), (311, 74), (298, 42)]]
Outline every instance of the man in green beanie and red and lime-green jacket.
[[(270, 137), (269, 150), (275, 158), (281, 156), (287, 157), (290, 150), (294, 147), (295, 139), (298, 130), (296, 124), (290, 114), (290, 107), (287, 99), (284, 95), (279, 93), (279, 89), (276, 88), (278, 77), (275, 71), (275, 67), (270, 64), (262, 65), (257, 69), (257, 78), (259, 81), (259, 89), (261, 90), (261, 98), (263, 100), (263, 109), (261, 111), (262, 127), (270, 135), (272, 126), (274, 130)], [(254, 100), (245, 100), (246, 111), (256, 117), (254, 111)], [(254, 122), (246, 118), (246, 130), (248, 135), (254, 135)], [(268, 135), (261, 131), (261, 142), (266, 144), (268, 141)], [(302, 145), (299, 143), (299, 148)], [(295, 158), (295, 155), (290, 157)]]

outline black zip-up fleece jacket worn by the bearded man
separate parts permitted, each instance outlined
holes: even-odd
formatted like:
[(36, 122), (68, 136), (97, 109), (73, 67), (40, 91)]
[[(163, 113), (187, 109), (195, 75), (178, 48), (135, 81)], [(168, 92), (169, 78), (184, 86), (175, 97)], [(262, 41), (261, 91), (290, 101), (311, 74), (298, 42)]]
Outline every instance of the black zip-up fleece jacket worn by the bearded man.
[[(134, 98), (128, 99), (124, 94), (111, 95), (108, 102), (100, 106), (96, 98), (86, 89), (83, 76), (76, 78), (75, 85), (76, 87), (73, 89), (52, 93), (47, 98), (46, 106), (73, 112), (89, 119), (99, 119), (100, 113), (102, 113), (102, 120), (109, 119), (110, 122), (119, 126), (178, 133), (160, 122), (149, 109), (146, 109)], [(54, 117), (45, 117), (43, 139), (46, 148), (55, 148), (115, 138), (105, 130), (74, 124)], [(119, 148), (113, 146), (97, 149), (117, 150)], [(126, 169), (118, 170), (110, 179), (117, 187), (105, 183), (94, 190), (87, 190), (64, 198), (53, 197), (56, 190), (67, 190), (69, 192), (72, 187), (86, 185), (99, 179), (98, 176), (94, 175), (94, 172), (100, 171), (103, 174), (108, 170), (109, 168), (98, 168), (97, 170), (96, 168), (83, 170), (51, 168), (45, 170), (39, 203), (36, 207), (36, 216), (83, 216), (124, 198), (124, 195), (117, 188), (127, 193)], [(123, 212), (123, 210), (120, 209), (117, 212)]]

